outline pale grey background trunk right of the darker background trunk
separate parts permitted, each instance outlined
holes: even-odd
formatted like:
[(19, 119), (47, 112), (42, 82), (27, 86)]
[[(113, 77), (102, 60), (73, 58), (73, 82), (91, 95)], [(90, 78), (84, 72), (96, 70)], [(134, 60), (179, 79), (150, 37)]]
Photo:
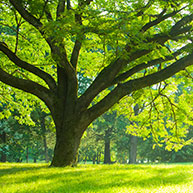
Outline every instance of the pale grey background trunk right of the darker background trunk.
[(136, 164), (137, 158), (137, 137), (130, 136), (129, 164)]

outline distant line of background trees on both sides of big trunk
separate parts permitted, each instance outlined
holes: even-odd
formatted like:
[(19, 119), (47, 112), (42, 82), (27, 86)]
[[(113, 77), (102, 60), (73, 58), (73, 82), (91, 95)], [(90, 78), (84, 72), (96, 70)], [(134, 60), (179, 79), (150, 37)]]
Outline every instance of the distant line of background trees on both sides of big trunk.
[[(14, 118), (18, 113), (14, 111), (9, 118), (0, 121), (0, 161), (50, 162), (55, 140), (50, 115), (36, 108), (30, 115), (34, 125), (29, 126), (20, 124)], [(143, 140), (142, 137), (129, 134), (127, 128), (131, 124), (116, 111), (98, 118), (82, 137), (78, 162), (136, 164), (193, 161), (192, 144), (179, 151), (168, 151), (165, 144), (156, 144), (151, 135)], [(186, 138), (192, 137), (193, 131), (190, 130)]]

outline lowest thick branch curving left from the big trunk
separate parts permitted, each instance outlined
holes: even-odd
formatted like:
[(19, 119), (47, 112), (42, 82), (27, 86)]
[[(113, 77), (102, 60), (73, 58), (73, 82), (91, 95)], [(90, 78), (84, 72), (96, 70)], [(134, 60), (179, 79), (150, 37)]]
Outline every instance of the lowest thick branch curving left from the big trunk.
[(24, 80), (21, 78), (14, 77), (5, 72), (4, 70), (2, 70), (1, 68), (0, 68), (0, 81), (14, 88), (23, 90), (25, 92), (37, 96), (42, 101), (44, 101), (49, 108), (51, 108), (52, 106), (51, 96), (53, 95), (52, 92), (50, 92), (49, 89), (39, 85), (38, 83), (35, 83), (31, 80)]

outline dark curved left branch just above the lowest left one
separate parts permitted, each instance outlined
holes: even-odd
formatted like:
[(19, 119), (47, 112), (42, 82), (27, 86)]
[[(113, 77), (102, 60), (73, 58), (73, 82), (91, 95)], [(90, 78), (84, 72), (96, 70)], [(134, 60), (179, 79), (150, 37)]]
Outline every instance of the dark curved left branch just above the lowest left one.
[(14, 54), (11, 50), (9, 50), (9, 48), (2, 42), (0, 42), (0, 51), (2, 51), (15, 65), (43, 79), (52, 90), (56, 89), (55, 80), (52, 78), (51, 75), (33, 66), (32, 64), (29, 64), (18, 58), (16, 54)]

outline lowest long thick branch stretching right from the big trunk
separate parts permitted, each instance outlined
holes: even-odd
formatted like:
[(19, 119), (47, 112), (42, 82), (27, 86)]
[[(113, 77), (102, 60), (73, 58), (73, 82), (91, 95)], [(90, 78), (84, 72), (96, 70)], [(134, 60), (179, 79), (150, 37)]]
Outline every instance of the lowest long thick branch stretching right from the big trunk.
[(142, 88), (164, 81), (190, 65), (193, 65), (193, 52), (159, 72), (139, 79), (131, 80), (123, 84), (119, 84), (99, 103), (88, 109), (85, 115), (89, 116), (89, 118), (93, 121), (98, 116), (106, 112), (109, 108), (111, 108), (124, 96), (130, 94), (133, 91), (140, 90)]

